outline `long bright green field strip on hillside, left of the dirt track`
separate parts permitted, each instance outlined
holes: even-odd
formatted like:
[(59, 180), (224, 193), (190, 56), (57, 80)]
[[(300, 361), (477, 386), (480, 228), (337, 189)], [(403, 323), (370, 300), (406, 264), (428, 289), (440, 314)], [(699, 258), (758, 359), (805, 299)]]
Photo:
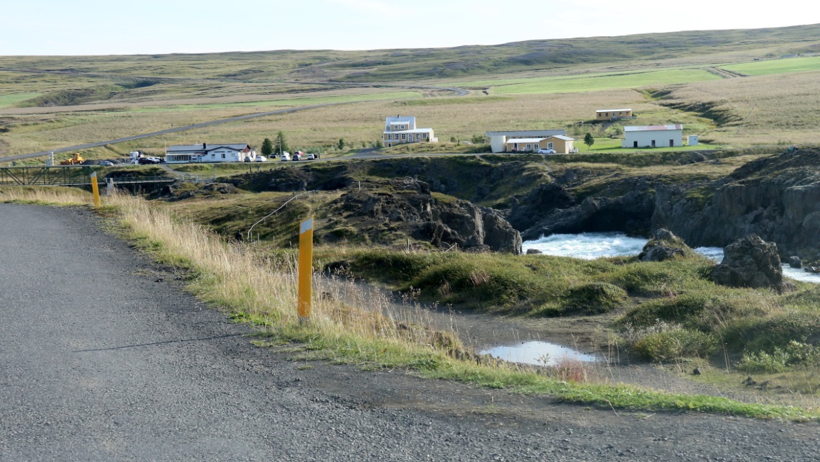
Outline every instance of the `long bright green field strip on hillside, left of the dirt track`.
[(645, 72), (535, 77), (531, 79), (476, 80), (462, 82), (467, 87), (492, 87), (493, 93), (583, 93), (614, 88), (649, 85), (690, 84), (720, 79), (701, 69), (666, 69)]

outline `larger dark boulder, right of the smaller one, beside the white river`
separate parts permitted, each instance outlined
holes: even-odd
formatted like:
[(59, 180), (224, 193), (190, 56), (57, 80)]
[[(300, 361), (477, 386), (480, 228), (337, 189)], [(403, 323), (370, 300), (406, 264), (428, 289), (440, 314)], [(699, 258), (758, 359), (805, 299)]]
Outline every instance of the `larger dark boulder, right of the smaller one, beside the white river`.
[(777, 244), (754, 234), (723, 249), (723, 261), (713, 268), (712, 280), (736, 288), (773, 288), (777, 292), (793, 289), (783, 281)]

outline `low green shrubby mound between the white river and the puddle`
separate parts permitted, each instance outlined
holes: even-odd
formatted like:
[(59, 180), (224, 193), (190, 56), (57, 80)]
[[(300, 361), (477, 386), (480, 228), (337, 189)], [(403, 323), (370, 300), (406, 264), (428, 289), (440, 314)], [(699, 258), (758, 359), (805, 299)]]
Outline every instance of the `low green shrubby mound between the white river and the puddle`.
[[(529, 316), (619, 313), (613, 328), (648, 360), (731, 356), (752, 370), (820, 362), (820, 287), (777, 295), (725, 288), (708, 280), (713, 263), (687, 255), (663, 262), (637, 257), (567, 257), (384, 248), (317, 252), (323, 268), (344, 268), (422, 300)], [(772, 365), (773, 364), (773, 365)]]

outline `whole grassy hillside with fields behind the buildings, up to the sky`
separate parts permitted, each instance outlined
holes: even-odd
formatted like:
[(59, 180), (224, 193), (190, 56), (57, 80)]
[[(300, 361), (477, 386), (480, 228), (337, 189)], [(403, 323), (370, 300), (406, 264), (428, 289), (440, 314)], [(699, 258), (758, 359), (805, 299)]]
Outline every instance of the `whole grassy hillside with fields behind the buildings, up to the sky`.
[[(421, 126), (434, 128), (444, 142), (506, 129), (620, 137), (625, 124), (680, 123), (685, 135), (699, 134), (715, 146), (817, 143), (814, 107), (820, 92), (813, 69), (818, 58), (753, 61), (809, 52), (818, 42), (816, 29), (647, 34), (440, 50), (0, 57), (0, 69), (6, 69), (0, 70), (0, 156), (325, 102), (351, 104), (189, 130), (83, 155), (109, 158), (138, 149), (159, 155), (169, 144), (208, 141), (258, 147), (280, 130), (305, 151), (330, 151), (339, 138), (348, 149), (370, 147), (380, 137), (385, 116), (395, 114), (417, 116)], [(725, 79), (706, 70), (714, 66), (762, 75)], [(449, 97), (435, 90), (294, 83), (337, 78), (465, 84), (474, 90), (468, 97)], [(632, 107), (638, 119), (581, 124), (594, 111), (614, 106)]]

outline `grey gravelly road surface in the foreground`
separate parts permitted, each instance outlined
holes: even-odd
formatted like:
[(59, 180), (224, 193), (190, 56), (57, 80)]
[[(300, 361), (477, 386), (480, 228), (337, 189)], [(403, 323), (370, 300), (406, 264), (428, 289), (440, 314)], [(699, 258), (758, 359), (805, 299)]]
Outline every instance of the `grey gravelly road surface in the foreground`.
[(590, 410), (253, 347), (84, 209), (0, 204), (0, 460), (818, 460), (818, 424)]

